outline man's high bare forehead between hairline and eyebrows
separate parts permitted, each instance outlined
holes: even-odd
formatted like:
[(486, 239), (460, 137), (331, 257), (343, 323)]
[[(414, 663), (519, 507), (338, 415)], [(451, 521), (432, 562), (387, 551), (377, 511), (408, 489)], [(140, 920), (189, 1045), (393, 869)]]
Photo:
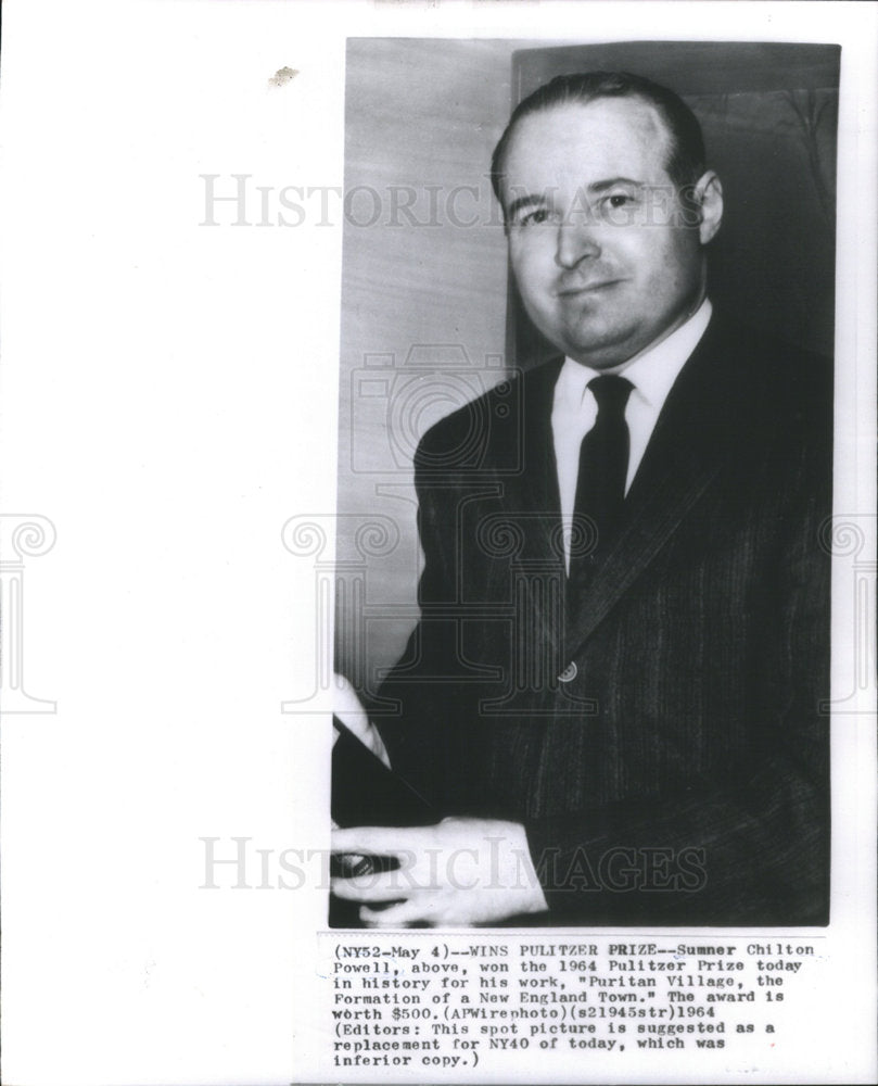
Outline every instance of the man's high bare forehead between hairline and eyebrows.
[(527, 176), (559, 169), (601, 172), (624, 165), (664, 172), (669, 141), (661, 115), (644, 99), (563, 102), (521, 118), (509, 142), (504, 173), (507, 184), (516, 185)]

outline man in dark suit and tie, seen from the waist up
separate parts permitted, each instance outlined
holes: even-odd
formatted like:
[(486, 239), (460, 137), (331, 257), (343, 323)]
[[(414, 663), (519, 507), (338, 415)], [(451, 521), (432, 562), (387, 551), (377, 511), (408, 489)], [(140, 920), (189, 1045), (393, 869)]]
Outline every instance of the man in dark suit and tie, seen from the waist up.
[(671, 91), (555, 79), (493, 180), (560, 356), (418, 450), (422, 616), (369, 740), (443, 818), (338, 831), (400, 867), (333, 892), (373, 926), (827, 923), (828, 369), (713, 312), (723, 193)]

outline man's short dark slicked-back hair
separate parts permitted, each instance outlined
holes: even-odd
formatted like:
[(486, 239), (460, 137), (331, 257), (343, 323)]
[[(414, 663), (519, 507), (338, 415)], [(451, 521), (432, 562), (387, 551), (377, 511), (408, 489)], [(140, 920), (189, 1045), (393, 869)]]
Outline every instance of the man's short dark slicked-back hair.
[(491, 185), (500, 206), (504, 160), (518, 123), (532, 113), (571, 103), (585, 105), (599, 98), (639, 98), (654, 106), (667, 129), (667, 176), (679, 189), (698, 181), (704, 173), (704, 137), (698, 118), (678, 94), (629, 72), (580, 72), (556, 76), (516, 106), (491, 157)]

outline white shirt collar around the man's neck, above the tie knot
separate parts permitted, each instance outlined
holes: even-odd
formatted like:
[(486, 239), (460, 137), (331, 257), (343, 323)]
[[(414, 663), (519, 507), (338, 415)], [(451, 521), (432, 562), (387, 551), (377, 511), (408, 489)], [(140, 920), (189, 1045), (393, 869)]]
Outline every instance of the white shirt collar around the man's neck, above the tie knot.
[(661, 406), (680, 369), (704, 334), (712, 313), (713, 307), (705, 298), (692, 316), (670, 336), (611, 369), (591, 369), (573, 358), (565, 358), (558, 376), (557, 396), (565, 405), (578, 408), (585, 389), (594, 377), (600, 374), (624, 374), (639, 399), (647, 404)]

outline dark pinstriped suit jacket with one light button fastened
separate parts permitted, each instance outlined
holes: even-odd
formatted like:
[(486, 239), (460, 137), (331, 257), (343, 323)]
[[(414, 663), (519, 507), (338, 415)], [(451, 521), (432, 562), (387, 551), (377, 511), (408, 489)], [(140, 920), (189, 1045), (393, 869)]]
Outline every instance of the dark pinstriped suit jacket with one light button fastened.
[(559, 367), (421, 442), (394, 768), (446, 815), (524, 824), (542, 923), (825, 924), (829, 367), (714, 317), (567, 604)]

